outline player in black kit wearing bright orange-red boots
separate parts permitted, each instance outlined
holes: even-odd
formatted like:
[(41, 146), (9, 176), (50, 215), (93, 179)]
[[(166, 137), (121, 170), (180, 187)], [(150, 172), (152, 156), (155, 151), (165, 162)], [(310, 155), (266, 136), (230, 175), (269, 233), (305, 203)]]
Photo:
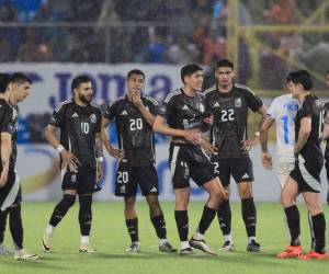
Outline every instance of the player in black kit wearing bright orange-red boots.
[[(286, 82), (292, 96), (300, 103), (300, 109), (296, 114), (295, 122), (295, 167), (281, 193), (281, 203), (290, 228), (291, 243), (286, 250), (277, 254), (277, 258), (298, 256), (300, 260), (322, 260), (326, 259), (326, 219), (320, 201), (320, 171), (324, 164), (320, 148), (322, 111), (320, 101), (309, 92), (313, 81), (306, 70), (288, 73)], [(300, 193), (311, 215), (315, 236), (315, 250), (307, 254), (302, 254), (299, 212), (295, 203)]]

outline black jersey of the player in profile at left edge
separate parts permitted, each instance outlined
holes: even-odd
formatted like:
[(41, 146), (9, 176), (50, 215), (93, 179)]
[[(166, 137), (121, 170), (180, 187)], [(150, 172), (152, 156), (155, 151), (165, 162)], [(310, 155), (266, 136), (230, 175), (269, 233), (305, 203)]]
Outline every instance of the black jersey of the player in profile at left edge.
[[(14, 168), (18, 157), (18, 109), (10, 105), (4, 99), (0, 99), (0, 133), (11, 134), (10, 169)], [(2, 159), (0, 165), (2, 170)]]

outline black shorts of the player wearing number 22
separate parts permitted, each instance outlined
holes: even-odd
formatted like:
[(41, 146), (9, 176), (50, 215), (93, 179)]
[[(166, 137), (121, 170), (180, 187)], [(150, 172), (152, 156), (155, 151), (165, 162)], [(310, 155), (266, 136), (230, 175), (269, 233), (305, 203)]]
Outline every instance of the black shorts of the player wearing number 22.
[(250, 158), (212, 159), (214, 174), (219, 176), (223, 186), (230, 183), (230, 176), (236, 183), (252, 182), (253, 171)]

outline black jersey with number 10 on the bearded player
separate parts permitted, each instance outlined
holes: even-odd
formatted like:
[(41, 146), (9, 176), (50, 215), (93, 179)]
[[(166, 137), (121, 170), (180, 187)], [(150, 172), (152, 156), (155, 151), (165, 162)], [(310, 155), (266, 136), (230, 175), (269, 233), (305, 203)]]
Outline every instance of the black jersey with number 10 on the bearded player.
[(78, 158), (82, 167), (97, 167), (95, 134), (102, 127), (102, 113), (98, 107), (65, 101), (55, 109), (49, 124), (60, 129), (60, 144)]

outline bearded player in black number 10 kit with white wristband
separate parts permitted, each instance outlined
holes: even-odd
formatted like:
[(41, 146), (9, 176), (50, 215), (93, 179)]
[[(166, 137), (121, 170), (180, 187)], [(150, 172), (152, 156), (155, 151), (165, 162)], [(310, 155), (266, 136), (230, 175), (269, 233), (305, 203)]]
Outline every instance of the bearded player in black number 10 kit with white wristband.
[[(43, 249), (49, 252), (58, 222), (79, 196), (80, 252), (97, 252), (89, 243), (92, 221), (92, 192), (103, 175), (102, 113), (91, 104), (92, 84), (87, 76), (72, 80), (73, 98), (60, 103), (45, 130), (50, 146), (60, 155), (63, 198), (56, 205), (43, 236)], [(56, 137), (60, 129), (60, 140)]]

